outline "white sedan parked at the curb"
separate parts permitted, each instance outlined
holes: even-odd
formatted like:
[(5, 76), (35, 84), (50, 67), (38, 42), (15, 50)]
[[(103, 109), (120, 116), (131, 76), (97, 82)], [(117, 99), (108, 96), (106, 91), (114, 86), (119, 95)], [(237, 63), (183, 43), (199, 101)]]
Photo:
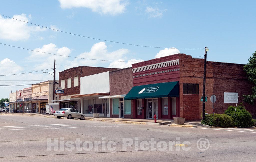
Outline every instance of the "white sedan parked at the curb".
[(83, 120), (84, 115), (82, 113), (79, 113), (76, 109), (70, 109), (70, 108), (63, 108), (58, 111), (54, 111), (54, 116), (57, 116), (57, 118), (66, 117), (68, 119), (74, 119), (79, 118), (80, 120)]

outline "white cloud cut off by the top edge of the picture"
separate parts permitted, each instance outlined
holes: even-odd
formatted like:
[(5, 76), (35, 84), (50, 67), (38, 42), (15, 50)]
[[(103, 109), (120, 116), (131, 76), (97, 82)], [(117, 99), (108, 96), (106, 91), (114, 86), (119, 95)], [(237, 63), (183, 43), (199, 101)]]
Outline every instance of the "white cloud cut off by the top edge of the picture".
[(59, 0), (62, 9), (73, 7), (90, 8), (93, 12), (100, 14), (117, 15), (125, 11), (128, 5), (123, 0)]

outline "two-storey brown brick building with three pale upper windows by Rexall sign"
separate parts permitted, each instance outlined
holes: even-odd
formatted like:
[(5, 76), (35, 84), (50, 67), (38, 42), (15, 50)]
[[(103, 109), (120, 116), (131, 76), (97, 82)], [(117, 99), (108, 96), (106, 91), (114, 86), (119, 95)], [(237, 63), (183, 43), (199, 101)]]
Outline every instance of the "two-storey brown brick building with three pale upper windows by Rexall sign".
[(71, 98), (80, 95), (80, 78), (111, 70), (116, 68), (78, 66), (59, 72), (59, 87), (64, 90), (64, 94), (55, 101), (60, 102), (60, 108), (74, 108), (80, 111), (80, 98)]

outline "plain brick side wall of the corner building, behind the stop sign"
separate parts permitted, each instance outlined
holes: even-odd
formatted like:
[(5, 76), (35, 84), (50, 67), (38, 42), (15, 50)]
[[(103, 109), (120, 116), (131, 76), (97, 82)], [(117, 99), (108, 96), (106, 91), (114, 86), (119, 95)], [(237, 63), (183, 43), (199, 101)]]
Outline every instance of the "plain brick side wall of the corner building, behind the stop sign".
[[(193, 102), (187, 102), (187, 95), (180, 95), (180, 115), (191, 119), (201, 118), (202, 102), (200, 101), (203, 91), (204, 59), (195, 59), (189, 55), (179, 54), (180, 58), (180, 94), (183, 94), (183, 83), (199, 84), (199, 95), (194, 96)], [(242, 102), (243, 94), (251, 94), (252, 84), (248, 81), (246, 73), (243, 71), (243, 64), (232, 64), (222, 62), (207, 61), (206, 70), (206, 96), (208, 101), (205, 104), (205, 112), (212, 113), (212, 103), (210, 96), (215, 95), (217, 100), (214, 103), (215, 113), (224, 113), (229, 105), (236, 103), (224, 103), (224, 92), (238, 92), (239, 102)], [(199, 101), (199, 111), (195, 114), (187, 114), (195, 109), (195, 103)], [(247, 110), (255, 117), (255, 107), (244, 103)]]

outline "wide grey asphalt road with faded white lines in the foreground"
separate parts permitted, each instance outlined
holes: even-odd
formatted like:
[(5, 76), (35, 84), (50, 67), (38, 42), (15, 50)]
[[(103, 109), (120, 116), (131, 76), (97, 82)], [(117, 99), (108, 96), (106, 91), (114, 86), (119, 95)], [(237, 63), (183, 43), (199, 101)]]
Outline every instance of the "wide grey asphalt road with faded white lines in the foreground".
[(256, 155), (256, 129), (0, 116), (0, 137), (0, 161), (255, 161)]

